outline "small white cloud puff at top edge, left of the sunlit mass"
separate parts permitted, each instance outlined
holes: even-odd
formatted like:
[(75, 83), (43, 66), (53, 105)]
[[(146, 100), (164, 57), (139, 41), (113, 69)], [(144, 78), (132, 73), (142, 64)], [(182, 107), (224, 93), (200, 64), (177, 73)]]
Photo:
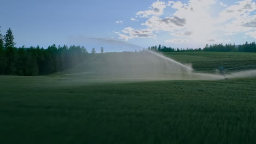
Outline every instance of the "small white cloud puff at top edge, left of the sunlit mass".
[(162, 15), (164, 14), (165, 8), (165, 2), (156, 1), (151, 5), (151, 7), (149, 7), (150, 10), (138, 11), (136, 15), (139, 15), (141, 17), (148, 17), (150, 15)]

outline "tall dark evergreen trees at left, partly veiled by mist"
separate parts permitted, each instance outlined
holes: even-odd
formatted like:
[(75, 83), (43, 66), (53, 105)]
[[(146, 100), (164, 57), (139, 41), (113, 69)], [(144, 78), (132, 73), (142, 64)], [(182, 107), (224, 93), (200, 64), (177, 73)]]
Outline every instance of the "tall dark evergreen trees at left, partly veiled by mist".
[[(103, 47), (101, 47), (103, 52)], [(96, 53), (93, 48), (91, 53)], [(82, 63), (88, 57), (84, 46), (15, 47), (13, 32), (0, 32), (0, 75), (45, 75)]]

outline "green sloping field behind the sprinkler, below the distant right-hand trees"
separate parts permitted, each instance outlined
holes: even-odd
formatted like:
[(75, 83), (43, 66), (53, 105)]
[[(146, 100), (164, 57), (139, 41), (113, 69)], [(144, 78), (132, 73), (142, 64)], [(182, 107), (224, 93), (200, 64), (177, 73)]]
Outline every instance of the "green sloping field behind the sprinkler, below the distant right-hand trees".
[[(214, 70), (218, 67), (234, 68), (255, 65), (256, 53), (241, 52), (166, 52), (165, 56), (178, 62), (192, 63), (195, 70)], [(246, 69), (255, 69), (248, 67)], [(234, 69), (240, 70), (240, 69)], [(243, 68), (245, 70), (245, 68)]]

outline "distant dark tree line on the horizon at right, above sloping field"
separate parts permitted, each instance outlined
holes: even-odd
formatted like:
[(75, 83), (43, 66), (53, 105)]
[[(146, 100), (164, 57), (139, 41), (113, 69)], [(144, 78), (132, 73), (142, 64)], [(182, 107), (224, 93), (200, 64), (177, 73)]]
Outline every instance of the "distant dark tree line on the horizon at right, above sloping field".
[(201, 49), (174, 49), (172, 47), (166, 47), (166, 46), (151, 46), (148, 47), (148, 50), (153, 50), (153, 51), (159, 51), (159, 52), (189, 52), (189, 51), (215, 51), (215, 52), (256, 52), (256, 44), (255, 41), (252, 43), (248, 43), (246, 41), (245, 44), (242, 45), (235, 45), (235, 44), (213, 44), (213, 45), (208, 45)]

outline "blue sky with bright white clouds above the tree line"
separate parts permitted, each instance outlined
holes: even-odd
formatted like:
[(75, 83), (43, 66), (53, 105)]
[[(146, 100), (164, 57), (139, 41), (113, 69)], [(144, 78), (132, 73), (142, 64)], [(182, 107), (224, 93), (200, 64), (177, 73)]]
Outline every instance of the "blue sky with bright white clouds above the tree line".
[(1, 11), (1, 33), (10, 27), (18, 47), (133, 51), (127, 43), (197, 48), (256, 39), (255, 0), (3, 0)]

